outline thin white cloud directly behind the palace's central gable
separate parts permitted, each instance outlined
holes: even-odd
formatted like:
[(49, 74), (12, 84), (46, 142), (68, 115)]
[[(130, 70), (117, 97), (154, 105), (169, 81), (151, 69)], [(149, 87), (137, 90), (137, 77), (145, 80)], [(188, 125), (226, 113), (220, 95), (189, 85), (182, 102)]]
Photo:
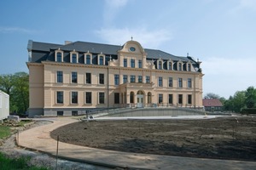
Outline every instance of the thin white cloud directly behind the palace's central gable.
[(96, 31), (96, 35), (110, 44), (123, 45), (131, 40), (140, 42), (143, 48), (159, 48), (164, 42), (172, 39), (172, 33), (167, 29), (148, 31), (144, 27), (139, 28), (106, 28)]

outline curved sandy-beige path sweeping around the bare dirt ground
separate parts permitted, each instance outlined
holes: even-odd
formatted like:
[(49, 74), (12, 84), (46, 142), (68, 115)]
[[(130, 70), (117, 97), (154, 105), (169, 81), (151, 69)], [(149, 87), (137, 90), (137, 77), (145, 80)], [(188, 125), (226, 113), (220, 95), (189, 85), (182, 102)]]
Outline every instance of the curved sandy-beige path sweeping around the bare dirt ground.
[[(206, 117), (205, 117), (206, 118)], [(52, 119), (53, 123), (34, 127), (19, 134), (19, 145), (55, 156), (57, 141), (49, 133), (57, 127), (78, 122), (72, 117)], [(107, 167), (136, 169), (255, 169), (255, 161), (228, 161), (183, 156), (158, 156), (111, 150), (98, 150), (79, 145), (59, 143), (59, 157)]]

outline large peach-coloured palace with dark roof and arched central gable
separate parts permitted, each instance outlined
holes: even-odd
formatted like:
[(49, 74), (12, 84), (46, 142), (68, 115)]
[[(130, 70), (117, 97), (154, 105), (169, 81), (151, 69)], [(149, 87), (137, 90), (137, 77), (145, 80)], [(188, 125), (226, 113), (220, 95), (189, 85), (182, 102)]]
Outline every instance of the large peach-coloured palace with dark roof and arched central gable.
[(120, 107), (202, 108), (201, 62), (137, 41), (28, 41), (29, 116), (77, 116)]

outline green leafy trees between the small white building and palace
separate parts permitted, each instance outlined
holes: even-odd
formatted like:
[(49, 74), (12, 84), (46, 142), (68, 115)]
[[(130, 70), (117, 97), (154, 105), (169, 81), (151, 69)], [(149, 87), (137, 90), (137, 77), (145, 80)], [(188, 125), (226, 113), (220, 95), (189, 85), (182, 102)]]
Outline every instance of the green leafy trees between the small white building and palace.
[(0, 89), (9, 94), (10, 112), (24, 113), (29, 106), (29, 76), (26, 72), (0, 76)]

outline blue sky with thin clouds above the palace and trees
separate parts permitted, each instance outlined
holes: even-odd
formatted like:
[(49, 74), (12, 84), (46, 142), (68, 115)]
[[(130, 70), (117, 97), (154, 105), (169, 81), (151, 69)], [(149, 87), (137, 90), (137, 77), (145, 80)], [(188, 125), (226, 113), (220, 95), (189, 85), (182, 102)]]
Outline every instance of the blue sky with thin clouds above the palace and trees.
[(254, 0), (1, 0), (0, 74), (26, 71), (27, 41), (101, 42), (202, 61), (204, 94), (256, 87)]

